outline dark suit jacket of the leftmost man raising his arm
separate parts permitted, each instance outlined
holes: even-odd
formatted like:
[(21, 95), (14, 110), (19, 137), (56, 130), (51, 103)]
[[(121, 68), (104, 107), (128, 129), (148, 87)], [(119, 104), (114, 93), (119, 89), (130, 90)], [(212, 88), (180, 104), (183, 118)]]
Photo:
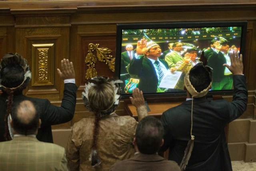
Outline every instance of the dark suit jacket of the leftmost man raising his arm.
[[(30, 100), (39, 108), (41, 128), (38, 129), (36, 138), (42, 142), (53, 142), (51, 125), (62, 124), (72, 120), (76, 106), (76, 90), (74, 83), (64, 84), (64, 95), (61, 106), (54, 106), (47, 99), (32, 98), (23, 94), (15, 95), (13, 102), (20, 100)], [(4, 140), (4, 116), (6, 115), (6, 98), (7, 94), (0, 96), (0, 142)]]

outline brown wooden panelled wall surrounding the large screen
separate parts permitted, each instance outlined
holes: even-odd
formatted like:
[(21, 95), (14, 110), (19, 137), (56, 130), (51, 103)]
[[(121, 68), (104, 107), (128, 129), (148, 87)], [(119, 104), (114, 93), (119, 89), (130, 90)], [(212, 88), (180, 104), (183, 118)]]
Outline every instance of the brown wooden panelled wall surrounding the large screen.
[[(31, 82), (26, 90), (29, 96), (48, 98), (60, 103), (63, 95), (63, 81), (58, 78), (56, 68), (63, 58), (73, 61), (76, 71), (78, 106), (74, 120), (59, 128), (68, 128), (89, 113), (81, 102), (87, 66), (84, 63), (89, 43), (98, 43), (99, 47), (112, 50), (116, 57), (116, 24), (139, 22), (187, 22), (187, 21), (236, 21), (247, 20), (248, 30), (246, 53), (244, 54), (244, 73), (249, 93), (248, 109), (241, 118), (256, 116), (255, 89), (256, 67), (256, 0), (118, 0), (104, 1), (38, 1), (0, 2), (0, 55), (8, 51), (17, 51), (28, 59), (36, 78), (35, 67), (38, 66), (33, 55), (33, 45), (53, 44), (52, 58), (49, 59), (46, 83)], [(10, 8), (10, 9), (8, 9)], [(41, 9), (40, 9), (41, 8)], [(43, 9), (44, 8), (44, 9)], [(34, 60), (34, 61), (33, 61)], [(53, 66), (53, 67), (52, 67)], [(98, 75), (113, 76), (108, 66), (100, 61), (95, 65)], [(37, 68), (38, 69), (38, 68)], [(224, 98), (231, 100), (232, 96)], [(124, 112), (124, 106), (118, 108)], [(124, 112), (126, 114), (126, 112)], [(58, 128), (54, 126), (53, 128)]]

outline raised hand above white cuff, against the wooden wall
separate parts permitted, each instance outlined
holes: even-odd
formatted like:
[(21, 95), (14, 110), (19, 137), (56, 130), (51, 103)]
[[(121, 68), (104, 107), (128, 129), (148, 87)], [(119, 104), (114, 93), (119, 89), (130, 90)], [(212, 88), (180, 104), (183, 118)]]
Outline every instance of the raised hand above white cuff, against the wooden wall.
[(57, 69), (58, 75), (61, 79), (74, 79), (75, 78), (75, 71), (73, 67), (73, 63), (69, 62), (68, 59), (61, 60), (61, 71)]

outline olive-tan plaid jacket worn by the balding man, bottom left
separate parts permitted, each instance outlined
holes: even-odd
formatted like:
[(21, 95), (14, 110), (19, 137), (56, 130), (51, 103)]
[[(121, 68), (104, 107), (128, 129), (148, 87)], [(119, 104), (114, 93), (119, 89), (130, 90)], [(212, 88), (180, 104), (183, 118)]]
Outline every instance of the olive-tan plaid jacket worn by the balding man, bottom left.
[(67, 171), (65, 149), (32, 136), (0, 143), (1, 171)]

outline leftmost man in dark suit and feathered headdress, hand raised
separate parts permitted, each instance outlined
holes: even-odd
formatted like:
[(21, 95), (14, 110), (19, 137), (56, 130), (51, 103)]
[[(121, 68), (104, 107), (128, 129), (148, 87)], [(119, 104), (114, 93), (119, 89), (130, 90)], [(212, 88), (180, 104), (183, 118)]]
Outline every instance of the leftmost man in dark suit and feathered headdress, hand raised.
[(31, 71), (28, 62), (18, 53), (4, 55), (0, 62), (0, 142), (12, 140), (14, 136), (10, 127), (11, 109), (13, 103), (20, 100), (30, 100), (40, 107), (41, 128), (37, 138), (43, 142), (53, 142), (51, 125), (70, 121), (74, 116), (76, 105), (76, 90), (74, 84), (74, 68), (72, 62), (63, 59), (58, 74), (64, 79), (64, 98), (60, 107), (50, 104), (49, 100), (24, 96), (22, 91), (28, 86)]

